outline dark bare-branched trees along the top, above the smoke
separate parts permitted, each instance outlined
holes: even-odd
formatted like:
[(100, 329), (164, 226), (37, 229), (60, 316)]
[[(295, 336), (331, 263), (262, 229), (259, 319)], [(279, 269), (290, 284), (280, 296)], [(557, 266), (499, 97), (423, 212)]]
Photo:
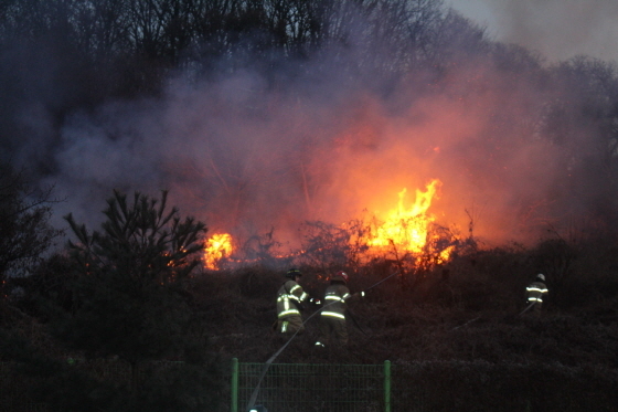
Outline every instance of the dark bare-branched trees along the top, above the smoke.
[[(202, 81), (251, 70), (286, 89), (291, 78), (337, 72), (395, 87), (484, 44), (482, 30), (437, 0), (1, 1), (0, 141), (6, 157), (28, 157), (49, 176), (67, 116), (156, 96), (179, 73)], [(30, 150), (33, 134), (44, 136)]]

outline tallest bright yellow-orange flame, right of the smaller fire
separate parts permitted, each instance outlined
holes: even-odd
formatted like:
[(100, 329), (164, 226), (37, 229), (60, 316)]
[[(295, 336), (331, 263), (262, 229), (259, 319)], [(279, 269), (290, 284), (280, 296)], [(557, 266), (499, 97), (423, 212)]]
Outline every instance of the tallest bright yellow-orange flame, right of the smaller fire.
[(396, 210), (388, 212), (386, 219), (373, 229), (367, 240), (367, 245), (374, 247), (396, 246), (413, 253), (423, 251), (427, 242), (429, 223), (435, 218), (427, 214), (431, 200), (440, 188), (439, 180), (433, 180), (427, 184), (427, 190), (416, 190), (416, 199), (409, 209), (404, 207), (406, 189), (399, 194)]

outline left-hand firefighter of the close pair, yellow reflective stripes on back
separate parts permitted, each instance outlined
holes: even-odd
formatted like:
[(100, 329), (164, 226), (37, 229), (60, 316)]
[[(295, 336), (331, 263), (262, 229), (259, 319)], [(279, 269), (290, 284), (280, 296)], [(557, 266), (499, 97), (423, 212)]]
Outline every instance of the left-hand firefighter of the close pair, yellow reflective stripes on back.
[(277, 293), (277, 326), (276, 330), (283, 335), (294, 335), (296, 331), (302, 334), (305, 325), (300, 310), (302, 303), (309, 297), (298, 284), (302, 274), (297, 268), (290, 268), (286, 274), (286, 281)]

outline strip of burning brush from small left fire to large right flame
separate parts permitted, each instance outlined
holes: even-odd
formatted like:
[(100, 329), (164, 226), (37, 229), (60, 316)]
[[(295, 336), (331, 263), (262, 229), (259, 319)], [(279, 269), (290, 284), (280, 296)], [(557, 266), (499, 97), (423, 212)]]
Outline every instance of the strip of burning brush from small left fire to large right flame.
[(273, 231), (251, 237), (242, 247), (228, 233), (214, 234), (205, 242), (204, 266), (225, 270), (279, 261), (330, 271), (392, 261), (401, 271), (429, 268), (448, 261), (462, 243), (457, 230), (439, 225), (429, 212), (440, 187), (439, 180), (431, 180), (425, 190), (416, 190), (409, 205), (404, 188), (398, 192), (397, 207), (382, 216), (363, 213), (339, 224), (307, 221), (300, 229), (301, 247), (287, 253), (280, 251), (281, 243), (274, 239)]

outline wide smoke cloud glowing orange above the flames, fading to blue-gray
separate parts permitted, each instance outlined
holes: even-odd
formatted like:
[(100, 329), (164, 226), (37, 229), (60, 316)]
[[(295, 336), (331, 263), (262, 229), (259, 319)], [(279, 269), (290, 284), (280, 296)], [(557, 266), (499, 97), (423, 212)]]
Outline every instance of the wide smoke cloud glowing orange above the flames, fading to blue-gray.
[[(572, 135), (548, 126), (563, 124), (552, 105), (562, 102), (568, 117), (577, 104), (562, 72), (449, 15), (440, 32), (461, 39), (459, 24), (476, 40), (444, 46), (431, 57), (444, 53), (440, 64), (385, 75), (366, 55), (388, 62), (390, 51), (359, 34), (300, 62), (277, 57), (232, 70), (219, 57), (207, 75), (185, 66), (168, 74), (158, 94), (75, 104), (60, 124), (53, 104), (71, 99), (76, 85), (57, 73), (78, 70), (63, 61), (50, 68), (55, 76), (11, 72), (32, 93), (3, 83), (18, 103), (3, 108), (3, 123), (28, 136), (4, 137), (8, 152), (66, 199), (55, 205), (56, 225), (71, 212), (94, 229), (113, 189), (169, 189), (171, 203), (210, 233), (246, 239), (274, 229), (297, 246), (305, 221), (380, 216), (397, 207), (402, 189), (411, 204), (431, 179), (443, 182), (429, 209), (437, 222), (464, 236), (472, 222), (489, 244), (533, 242), (593, 213), (606, 190), (586, 166), (597, 156), (597, 144), (586, 140), (597, 125), (577, 124)], [(351, 32), (363, 33), (362, 24), (354, 20)], [(21, 53), (44, 67), (36, 53)]]

